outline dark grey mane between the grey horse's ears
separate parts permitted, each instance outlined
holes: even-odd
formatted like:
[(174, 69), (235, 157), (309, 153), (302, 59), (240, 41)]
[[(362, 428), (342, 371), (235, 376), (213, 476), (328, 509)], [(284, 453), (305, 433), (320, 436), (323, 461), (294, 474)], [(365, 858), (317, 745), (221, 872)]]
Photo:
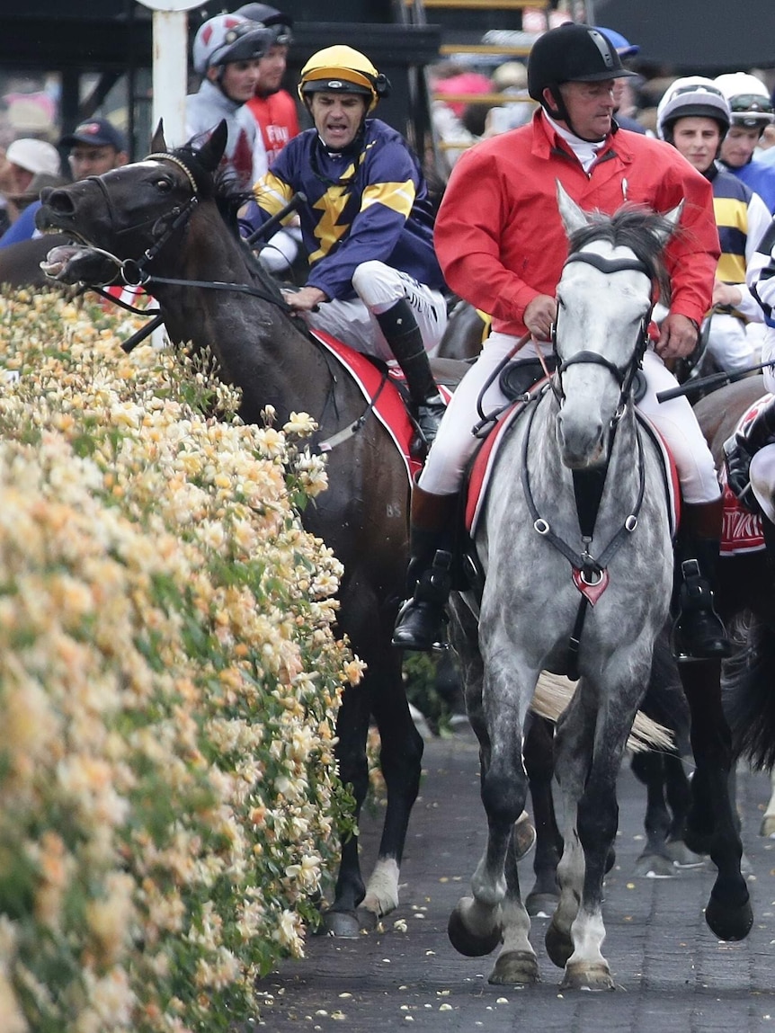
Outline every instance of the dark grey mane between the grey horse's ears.
[(588, 214), (587, 226), (570, 234), (568, 253), (580, 251), (593, 241), (607, 241), (614, 247), (629, 248), (649, 270), (659, 286), (663, 301), (670, 299), (670, 276), (662, 259), (665, 242), (677, 227), (658, 212), (643, 205), (624, 205), (613, 215), (603, 212)]

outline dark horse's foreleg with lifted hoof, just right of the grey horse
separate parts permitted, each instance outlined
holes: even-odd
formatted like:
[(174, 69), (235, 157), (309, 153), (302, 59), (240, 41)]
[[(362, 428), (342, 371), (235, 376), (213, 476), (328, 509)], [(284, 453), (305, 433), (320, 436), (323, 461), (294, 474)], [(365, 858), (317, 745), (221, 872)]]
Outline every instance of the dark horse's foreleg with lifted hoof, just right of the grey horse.
[(704, 661), (680, 666), (696, 763), (686, 842), (698, 853), (710, 853), (717, 868), (706, 921), (720, 940), (742, 940), (753, 925), (753, 912), (740, 871), (743, 847), (730, 795), (732, 735), (721, 709), (720, 664)]

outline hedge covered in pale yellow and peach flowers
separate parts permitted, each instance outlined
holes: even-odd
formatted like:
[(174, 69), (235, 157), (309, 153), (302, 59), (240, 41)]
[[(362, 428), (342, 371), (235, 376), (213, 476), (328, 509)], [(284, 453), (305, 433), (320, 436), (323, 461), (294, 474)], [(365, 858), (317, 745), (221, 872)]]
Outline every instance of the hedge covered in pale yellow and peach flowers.
[(125, 355), (132, 328), (0, 296), (3, 1033), (255, 1016), (346, 826), (361, 664), (299, 520), (309, 418), (242, 425), (204, 366)]

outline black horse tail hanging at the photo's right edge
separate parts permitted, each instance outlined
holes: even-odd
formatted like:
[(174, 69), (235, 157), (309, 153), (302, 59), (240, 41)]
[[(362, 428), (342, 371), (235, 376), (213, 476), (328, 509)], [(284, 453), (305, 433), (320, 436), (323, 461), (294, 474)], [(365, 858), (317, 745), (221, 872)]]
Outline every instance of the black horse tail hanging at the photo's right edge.
[(722, 691), (736, 757), (754, 771), (775, 768), (775, 634), (751, 616), (744, 644), (726, 661)]

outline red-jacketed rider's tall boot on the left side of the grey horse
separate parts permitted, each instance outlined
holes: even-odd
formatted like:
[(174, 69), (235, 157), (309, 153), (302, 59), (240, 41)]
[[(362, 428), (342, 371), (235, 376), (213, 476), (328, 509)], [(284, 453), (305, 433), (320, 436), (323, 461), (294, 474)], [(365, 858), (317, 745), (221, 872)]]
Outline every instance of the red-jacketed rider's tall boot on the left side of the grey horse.
[(452, 546), (458, 495), (433, 495), (414, 484), (409, 525), (410, 598), (399, 611), (393, 645), (427, 652), (444, 638), (444, 607), (452, 589)]

